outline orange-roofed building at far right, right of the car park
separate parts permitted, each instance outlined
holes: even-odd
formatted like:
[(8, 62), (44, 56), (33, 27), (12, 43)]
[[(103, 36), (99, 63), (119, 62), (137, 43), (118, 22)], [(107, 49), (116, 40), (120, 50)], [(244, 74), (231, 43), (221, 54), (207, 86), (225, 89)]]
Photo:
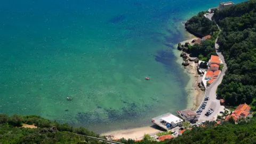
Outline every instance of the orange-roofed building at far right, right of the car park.
[(251, 107), (247, 105), (246, 103), (239, 105), (235, 111), (229, 116), (226, 117), (226, 120), (228, 120), (230, 117), (233, 117), (235, 122), (237, 122), (240, 118), (246, 118), (248, 115), (250, 115), (250, 109)]

